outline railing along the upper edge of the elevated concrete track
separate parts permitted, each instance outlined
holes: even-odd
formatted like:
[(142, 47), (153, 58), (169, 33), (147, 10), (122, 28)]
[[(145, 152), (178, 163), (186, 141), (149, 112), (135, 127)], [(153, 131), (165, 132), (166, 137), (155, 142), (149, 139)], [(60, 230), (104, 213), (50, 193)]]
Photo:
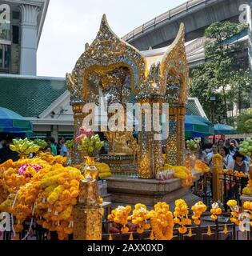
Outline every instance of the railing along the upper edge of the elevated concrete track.
[[(212, 0), (213, 1), (213, 0)], [(212, 2), (211, 1), (211, 2)], [(142, 24), (142, 26), (138, 26), (136, 29), (132, 30), (130, 33), (126, 34), (122, 39), (124, 41), (130, 40), (134, 38), (138, 34), (142, 34), (145, 30), (149, 29), (150, 27), (155, 27), (158, 23), (163, 22), (165, 20), (170, 20), (174, 18), (178, 14), (182, 14), (183, 12), (187, 12), (190, 9), (194, 8), (195, 6), (199, 6), (202, 3), (208, 3), (210, 0), (191, 0), (183, 3), (180, 6), (175, 7), (174, 9), (166, 11), (164, 14), (158, 15), (156, 18), (153, 18), (149, 22)]]

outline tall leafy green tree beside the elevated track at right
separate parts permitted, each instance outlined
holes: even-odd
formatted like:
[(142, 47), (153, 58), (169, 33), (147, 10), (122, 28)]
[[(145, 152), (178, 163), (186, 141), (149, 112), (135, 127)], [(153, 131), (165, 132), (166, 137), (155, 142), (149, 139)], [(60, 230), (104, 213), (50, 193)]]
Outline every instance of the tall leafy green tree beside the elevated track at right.
[[(206, 62), (192, 70), (190, 94), (199, 99), (213, 122), (228, 123), (227, 111), (234, 102), (241, 103), (241, 98), (249, 102), (250, 72), (238, 62), (242, 45), (230, 40), (246, 29), (244, 24), (216, 22), (205, 30)], [(210, 102), (211, 96), (215, 102)]]

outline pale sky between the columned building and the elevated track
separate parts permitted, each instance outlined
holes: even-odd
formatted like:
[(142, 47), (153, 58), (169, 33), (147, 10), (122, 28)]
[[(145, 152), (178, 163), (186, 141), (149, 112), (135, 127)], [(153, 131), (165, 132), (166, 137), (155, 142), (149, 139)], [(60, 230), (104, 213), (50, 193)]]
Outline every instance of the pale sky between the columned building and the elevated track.
[(185, 0), (50, 0), (38, 46), (38, 75), (65, 77), (91, 43), (102, 14), (122, 37)]

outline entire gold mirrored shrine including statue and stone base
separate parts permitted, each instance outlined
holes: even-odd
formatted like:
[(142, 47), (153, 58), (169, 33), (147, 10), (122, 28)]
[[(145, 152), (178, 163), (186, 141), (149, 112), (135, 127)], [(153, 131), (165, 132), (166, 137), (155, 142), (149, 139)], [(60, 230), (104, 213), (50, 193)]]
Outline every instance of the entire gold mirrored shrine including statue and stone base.
[[(145, 57), (114, 34), (104, 14), (94, 42), (86, 46), (72, 73), (66, 74), (74, 111), (74, 138), (78, 137), (84, 118), (90, 114), (84, 113), (83, 108), (89, 103), (99, 105), (101, 96), (106, 98), (107, 107), (119, 103), (126, 109), (132, 98), (142, 107), (140, 115), (143, 122), (142, 129), (138, 131), (138, 141), (132, 131), (126, 130), (126, 117), (123, 115), (118, 122), (124, 125), (124, 131), (104, 132), (109, 145), (108, 154), (101, 155), (100, 159), (110, 165), (114, 174), (106, 180), (115, 205), (142, 202), (154, 206), (160, 200), (169, 202), (190, 193), (189, 187), (182, 188), (179, 179), (156, 180), (164, 164), (162, 143), (166, 146), (165, 162), (184, 165), (184, 122), (190, 88), (184, 42), (185, 26), (182, 23), (166, 54), (159, 58)], [(145, 129), (146, 103), (151, 107), (157, 103), (159, 106), (169, 104), (169, 135), (163, 141), (154, 139), (161, 132)], [(160, 118), (161, 107), (158, 112), (156, 115)], [(78, 165), (82, 162), (82, 152), (74, 145), (73, 163)], [(189, 198), (193, 200), (194, 196), (190, 194)]]

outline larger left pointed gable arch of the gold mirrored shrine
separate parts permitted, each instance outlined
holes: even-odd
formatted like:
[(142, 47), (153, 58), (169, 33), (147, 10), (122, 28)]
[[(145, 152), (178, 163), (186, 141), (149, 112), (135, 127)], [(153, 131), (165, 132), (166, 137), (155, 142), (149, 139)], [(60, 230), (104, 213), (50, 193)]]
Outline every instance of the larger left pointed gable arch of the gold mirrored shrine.
[(113, 73), (120, 69), (122, 71), (122, 68), (129, 70), (131, 89), (137, 93), (139, 85), (146, 77), (145, 58), (137, 49), (114, 34), (106, 20), (106, 15), (103, 14), (100, 30), (94, 42), (78, 59), (72, 74), (66, 74), (67, 86), (71, 92), (71, 104), (92, 100), (96, 102), (95, 89), (91, 88), (92, 82), (95, 79), (110, 82)]

